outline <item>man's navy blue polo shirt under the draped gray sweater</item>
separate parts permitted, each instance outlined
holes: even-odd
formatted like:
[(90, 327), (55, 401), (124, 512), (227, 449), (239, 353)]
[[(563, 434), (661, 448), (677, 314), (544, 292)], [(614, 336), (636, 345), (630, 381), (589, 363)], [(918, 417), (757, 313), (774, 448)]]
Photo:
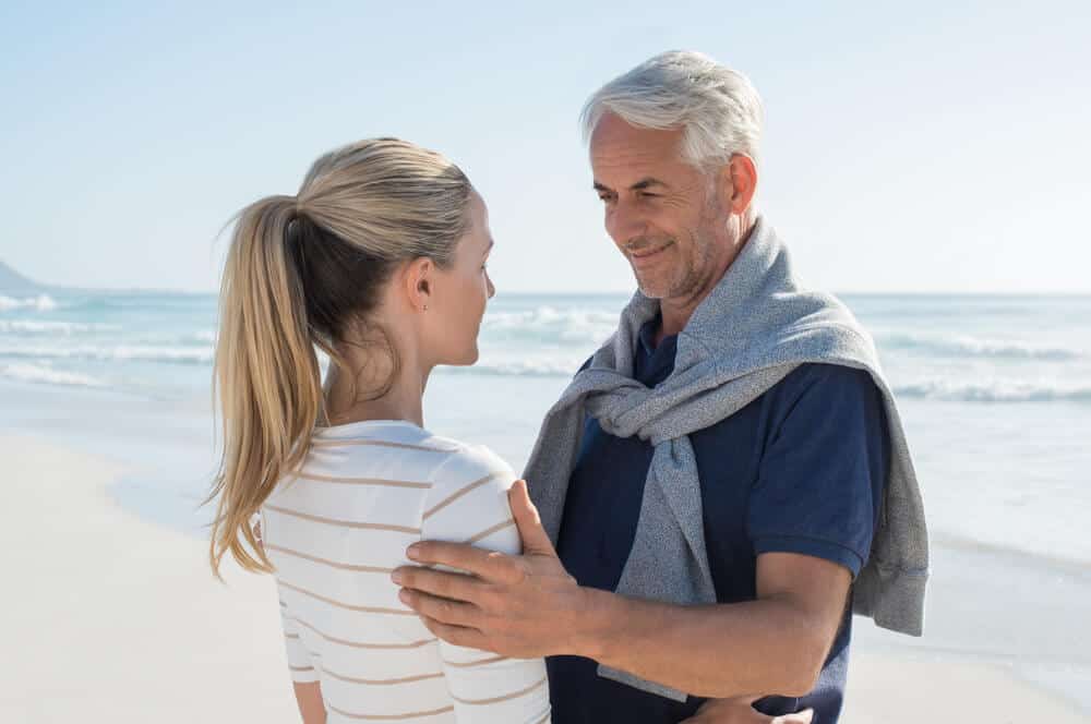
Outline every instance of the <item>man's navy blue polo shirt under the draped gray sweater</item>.
[[(674, 367), (676, 337), (658, 347), (659, 319), (640, 330), (635, 378), (648, 387)], [(889, 461), (883, 400), (866, 372), (805, 364), (719, 423), (690, 435), (697, 458), (705, 543), (717, 601), (756, 599), (762, 553), (788, 552), (838, 563), (853, 577), (867, 560)], [(652, 447), (608, 435), (588, 418), (568, 484), (558, 553), (582, 586), (613, 591), (636, 532)], [(818, 685), (806, 697), (769, 697), (757, 709), (778, 715), (813, 707), (814, 724), (841, 711), (852, 615)], [(724, 641), (728, 649), (731, 641)], [(674, 724), (699, 708), (600, 678), (597, 663), (551, 656), (558, 724)], [(770, 692), (771, 693), (771, 692)]]

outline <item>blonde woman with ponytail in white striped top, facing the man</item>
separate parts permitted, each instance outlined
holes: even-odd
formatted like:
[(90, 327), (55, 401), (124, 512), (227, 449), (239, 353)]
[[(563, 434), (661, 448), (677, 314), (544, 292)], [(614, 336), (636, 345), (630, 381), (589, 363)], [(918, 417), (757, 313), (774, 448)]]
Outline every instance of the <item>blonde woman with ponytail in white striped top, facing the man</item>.
[[(211, 559), (217, 574), (230, 553), (276, 577), (305, 724), (550, 719), (541, 660), (437, 641), (389, 577), (416, 540), (519, 552), (515, 474), (428, 432), (421, 410), (433, 367), (478, 358), (491, 246), (466, 176), (394, 138), (322, 156), (298, 195), (237, 219)], [(331, 360), (324, 383), (316, 350)]]

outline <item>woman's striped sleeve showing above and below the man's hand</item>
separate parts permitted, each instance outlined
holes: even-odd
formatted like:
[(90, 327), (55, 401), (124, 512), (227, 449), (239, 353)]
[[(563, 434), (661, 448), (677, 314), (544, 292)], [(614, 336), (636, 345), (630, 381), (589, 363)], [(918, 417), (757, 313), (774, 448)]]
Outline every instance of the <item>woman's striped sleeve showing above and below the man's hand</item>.
[[(485, 448), (456, 454), (436, 471), (421, 538), (521, 553), (507, 491), (512, 469)], [(541, 659), (508, 659), (440, 641), (440, 659), (459, 724), (548, 724), (549, 683)]]

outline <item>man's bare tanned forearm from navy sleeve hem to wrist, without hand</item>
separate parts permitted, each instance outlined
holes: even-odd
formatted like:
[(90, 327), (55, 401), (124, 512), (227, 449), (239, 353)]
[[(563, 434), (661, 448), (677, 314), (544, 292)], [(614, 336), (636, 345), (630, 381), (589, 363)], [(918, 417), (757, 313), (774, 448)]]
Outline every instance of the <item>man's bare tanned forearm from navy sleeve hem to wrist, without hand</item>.
[(700, 697), (811, 692), (844, 613), (849, 571), (758, 556), (757, 600), (678, 606), (590, 591), (591, 657)]

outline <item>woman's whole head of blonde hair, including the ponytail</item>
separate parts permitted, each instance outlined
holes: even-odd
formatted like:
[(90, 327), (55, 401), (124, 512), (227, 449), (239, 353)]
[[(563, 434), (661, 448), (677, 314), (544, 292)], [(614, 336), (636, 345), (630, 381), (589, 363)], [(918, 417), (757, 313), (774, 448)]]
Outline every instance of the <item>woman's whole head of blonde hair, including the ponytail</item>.
[(367, 323), (399, 263), (449, 267), (471, 192), (440, 154), (372, 138), (319, 158), (298, 195), (267, 196), (232, 217), (213, 381), (224, 448), (205, 500), (219, 498), (217, 577), (228, 552), (247, 570), (272, 571), (250, 519), (327, 419), (315, 348), (344, 367), (335, 343)]

